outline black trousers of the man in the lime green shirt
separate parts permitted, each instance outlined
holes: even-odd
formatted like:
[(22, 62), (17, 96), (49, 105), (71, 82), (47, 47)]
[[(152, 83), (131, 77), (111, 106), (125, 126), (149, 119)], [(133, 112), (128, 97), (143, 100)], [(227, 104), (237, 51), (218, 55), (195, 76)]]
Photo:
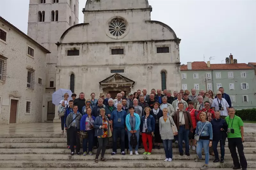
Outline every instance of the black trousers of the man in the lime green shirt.
[(231, 153), (231, 157), (233, 159), (233, 164), (236, 167), (240, 167), (239, 160), (236, 153), (236, 147), (240, 158), (240, 164), (242, 168), (247, 168), (247, 161), (244, 156), (244, 145), (242, 138), (235, 137), (235, 138), (228, 138), (228, 148)]

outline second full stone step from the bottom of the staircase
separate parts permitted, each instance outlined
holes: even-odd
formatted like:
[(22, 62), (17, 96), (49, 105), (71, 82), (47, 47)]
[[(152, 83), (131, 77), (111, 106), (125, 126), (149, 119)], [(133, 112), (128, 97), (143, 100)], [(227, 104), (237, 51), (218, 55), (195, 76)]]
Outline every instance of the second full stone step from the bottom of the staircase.
[[(220, 155), (219, 155), (220, 157)], [(164, 160), (165, 154), (152, 154), (148, 155), (110, 155), (105, 154), (104, 158), (106, 160)], [(245, 154), (246, 160), (256, 160), (256, 154)], [(93, 155), (86, 155), (86, 156), (70, 156), (70, 154), (0, 154), (0, 160), (94, 160), (95, 154)], [(173, 160), (195, 160), (196, 154), (190, 154), (190, 156), (184, 155), (180, 156), (178, 153), (174, 153)], [(204, 156), (203, 156), (204, 159)], [(210, 155), (210, 160), (214, 160), (214, 156)], [(225, 160), (233, 160), (231, 154), (225, 154)]]

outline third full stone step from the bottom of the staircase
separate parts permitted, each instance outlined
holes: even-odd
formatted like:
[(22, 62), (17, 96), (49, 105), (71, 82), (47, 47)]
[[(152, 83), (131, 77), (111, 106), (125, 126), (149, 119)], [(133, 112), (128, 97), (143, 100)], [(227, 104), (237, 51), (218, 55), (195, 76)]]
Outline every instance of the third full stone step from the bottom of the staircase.
[[(96, 153), (97, 149), (93, 149), (92, 152)], [(185, 148), (183, 148), (183, 151), (185, 151)], [(80, 149), (80, 152), (83, 152), (83, 149)], [(139, 153), (145, 152), (144, 149), (139, 149)], [(178, 148), (172, 149), (173, 153), (179, 153)], [(196, 153), (194, 150), (190, 150), (190, 153)], [(218, 152), (220, 153), (220, 148), (218, 148)], [(1, 148), (0, 154), (31, 154), (31, 153), (43, 153), (43, 154), (65, 154), (70, 153), (70, 150), (68, 149), (62, 149), (62, 148)], [(112, 149), (106, 149), (105, 153), (112, 153)], [(120, 149), (117, 149), (117, 153), (121, 153)], [(164, 149), (152, 149), (152, 154), (158, 154), (158, 153), (164, 153)], [(230, 153), (228, 147), (225, 147), (225, 153)], [(256, 148), (246, 147), (244, 148), (244, 153), (256, 153)]]

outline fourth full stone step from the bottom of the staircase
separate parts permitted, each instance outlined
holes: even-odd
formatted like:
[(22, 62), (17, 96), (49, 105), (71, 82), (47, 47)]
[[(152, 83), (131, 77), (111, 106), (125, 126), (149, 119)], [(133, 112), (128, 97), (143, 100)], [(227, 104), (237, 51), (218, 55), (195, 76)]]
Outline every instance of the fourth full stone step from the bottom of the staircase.
[[(111, 143), (109, 143), (112, 146)], [(228, 144), (226, 144), (227, 146)], [(256, 142), (244, 142), (244, 147), (256, 147)], [(82, 142), (80, 144), (82, 147)], [(142, 146), (142, 145), (141, 145)], [(163, 148), (164, 144), (160, 144)], [(220, 143), (218, 144), (218, 147)], [(177, 148), (178, 144), (172, 143), (173, 148)], [(185, 144), (183, 144), (185, 147)], [(67, 148), (67, 143), (0, 143), (0, 148)]]

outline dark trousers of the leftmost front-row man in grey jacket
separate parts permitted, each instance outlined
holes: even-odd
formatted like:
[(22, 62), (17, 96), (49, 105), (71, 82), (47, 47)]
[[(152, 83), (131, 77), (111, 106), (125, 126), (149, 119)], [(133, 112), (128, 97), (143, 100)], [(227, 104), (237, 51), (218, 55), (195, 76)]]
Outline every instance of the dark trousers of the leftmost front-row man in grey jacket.
[(74, 145), (76, 143), (76, 153), (80, 152), (80, 138), (77, 133), (77, 129), (74, 126), (71, 126), (68, 129), (69, 137), (70, 137), (70, 150), (71, 152), (75, 152)]

